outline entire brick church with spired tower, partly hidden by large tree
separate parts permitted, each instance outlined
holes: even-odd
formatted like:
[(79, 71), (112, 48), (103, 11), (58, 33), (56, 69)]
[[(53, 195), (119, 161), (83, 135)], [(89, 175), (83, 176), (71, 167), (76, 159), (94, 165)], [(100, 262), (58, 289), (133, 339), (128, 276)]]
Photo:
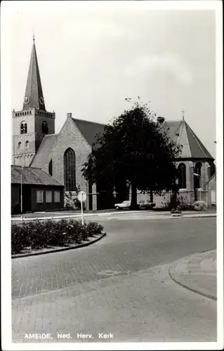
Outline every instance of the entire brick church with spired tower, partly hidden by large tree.
[[(213, 157), (184, 118), (165, 121), (159, 117), (158, 123), (167, 128), (173, 140), (183, 145), (181, 158), (177, 160), (180, 195), (189, 202), (206, 200), (206, 184), (215, 173)], [(75, 119), (68, 113), (60, 132), (55, 133), (55, 112), (46, 110), (33, 42), (23, 107), (20, 111), (13, 110), (12, 164), (41, 168), (64, 185), (65, 192), (72, 197), (77, 196), (77, 190), (86, 191), (87, 209), (112, 208), (113, 194), (100, 194), (97, 185), (89, 185), (81, 173), (95, 143), (95, 135), (103, 129), (103, 124)], [(143, 198), (147, 199), (147, 195), (138, 194), (138, 199)], [(154, 202), (160, 206), (167, 199), (169, 201), (169, 194), (164, 194), (154, 197)]]

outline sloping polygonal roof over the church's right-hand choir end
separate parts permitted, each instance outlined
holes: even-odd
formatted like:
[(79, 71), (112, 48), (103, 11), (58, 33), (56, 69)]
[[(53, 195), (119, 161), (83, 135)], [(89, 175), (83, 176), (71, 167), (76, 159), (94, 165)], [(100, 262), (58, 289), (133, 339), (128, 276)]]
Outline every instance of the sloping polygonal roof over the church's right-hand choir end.
[(185, 119), (181, 121), (165, 121), (164, 128), (169, 128), (171, 139), (178, 145), (183, 145), (181, 159), (210, 159), (213, 157), (206, 150), (201, 140), (192, 131)]

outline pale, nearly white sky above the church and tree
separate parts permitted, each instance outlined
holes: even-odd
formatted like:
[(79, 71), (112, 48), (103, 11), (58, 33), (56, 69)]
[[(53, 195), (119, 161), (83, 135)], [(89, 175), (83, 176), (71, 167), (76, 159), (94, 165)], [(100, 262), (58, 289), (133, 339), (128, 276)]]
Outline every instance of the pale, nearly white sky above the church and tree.
[(140, 95), (167, 120), (181, 119), (184, 108), (187, 123), (216, 157), (215, 11), (152, 10), (140, 4), (147, 1), (11, 2), (12, 109), (22, 109), (34, 31), (55, 132), (67, 112), (107, 123), (129, 107), (126, 97)]

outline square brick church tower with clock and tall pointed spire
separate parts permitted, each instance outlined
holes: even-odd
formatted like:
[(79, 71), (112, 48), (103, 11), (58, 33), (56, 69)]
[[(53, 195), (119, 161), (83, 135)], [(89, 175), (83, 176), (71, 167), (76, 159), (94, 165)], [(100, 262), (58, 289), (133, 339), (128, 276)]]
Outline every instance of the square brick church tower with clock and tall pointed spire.
[(46, 134), (55, 133), (55, 112), (47, 112), (33, 37), (23, 107), (13, 110), (13, 164), (29, 166)]

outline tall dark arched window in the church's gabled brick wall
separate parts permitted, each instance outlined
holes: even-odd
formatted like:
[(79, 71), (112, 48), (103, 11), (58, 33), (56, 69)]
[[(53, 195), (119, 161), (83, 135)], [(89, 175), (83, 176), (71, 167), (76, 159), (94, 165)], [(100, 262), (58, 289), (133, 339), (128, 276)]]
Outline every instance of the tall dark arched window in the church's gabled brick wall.
[(75, 191), (75, 153), (71, 148), (67, 149), (64, 154), (64, 178), (65, 178), (65, 191)]

